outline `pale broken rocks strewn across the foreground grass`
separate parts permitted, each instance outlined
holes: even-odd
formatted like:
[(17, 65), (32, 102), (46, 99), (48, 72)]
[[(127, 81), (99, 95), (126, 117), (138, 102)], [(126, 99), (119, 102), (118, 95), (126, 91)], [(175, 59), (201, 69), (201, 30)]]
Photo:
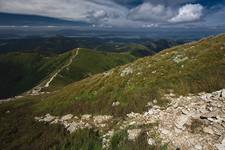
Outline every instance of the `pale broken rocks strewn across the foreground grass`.
[[(164, 98), (170, 101), (167, 107), (159, 107), (157, 100), (153, 100), (146, 104), (148, 111), (131, 112), (124, 118), (46, 114), (35, 120), (50, 125), (62, 124), (69, 133), (96, 129), (102, 135), (103, 149), (110, 149), (113, 135), (126, 130), (130, 141), (146, 134), (149, 145), (167, 143), (169, 149), (225, 150), (225, 89), (186, 97), (170, 93)], [(112, 107), (118, 105), (119, 102), (114, 102)]]

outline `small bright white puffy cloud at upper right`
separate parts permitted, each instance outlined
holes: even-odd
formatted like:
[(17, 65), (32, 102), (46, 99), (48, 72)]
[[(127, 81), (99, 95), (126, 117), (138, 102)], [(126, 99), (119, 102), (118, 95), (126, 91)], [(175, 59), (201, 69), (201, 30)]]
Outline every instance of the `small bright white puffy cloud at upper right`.
[(203, 6), (200, 4), (184, 5), (179, 9), (178, 14), (171, 18), (169, 22), (179, 23), (199, 20), (203, 15), (203, 9)]

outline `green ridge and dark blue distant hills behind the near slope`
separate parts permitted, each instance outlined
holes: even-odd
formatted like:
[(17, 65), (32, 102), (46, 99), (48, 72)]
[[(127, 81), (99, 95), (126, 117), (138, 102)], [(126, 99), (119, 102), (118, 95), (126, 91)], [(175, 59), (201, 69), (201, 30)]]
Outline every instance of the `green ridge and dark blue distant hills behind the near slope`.
[(52, 89), (137, 58), (154, 55), (180, 43), (171, 40), (66, 37), (0, 40), (0, 69), (5, 72), (0, 75), (0, 97), (16, 96), (44, 84), (69, 61), (76, 48), (84, 47), (80, 48), (79, 55), (72, 63), (60, 71), (52, 82), (54, 86), (50, 86)]

